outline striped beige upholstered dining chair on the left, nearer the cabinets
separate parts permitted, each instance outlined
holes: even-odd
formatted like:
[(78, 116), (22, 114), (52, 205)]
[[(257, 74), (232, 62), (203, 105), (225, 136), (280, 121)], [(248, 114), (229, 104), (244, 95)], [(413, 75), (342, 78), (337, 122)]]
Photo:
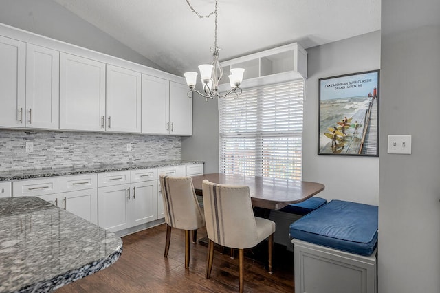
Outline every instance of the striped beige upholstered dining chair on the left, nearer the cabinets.
[(190, 232), (196, 241), (198, 228), (205, 226), (205, 217), (199, 207), (191, 177), (160, 175), (162, 199), (164, 200), (166, 243), (164, 257), (170, 249), (171, 228), (185, 230), (185, 268), (190, 265)]

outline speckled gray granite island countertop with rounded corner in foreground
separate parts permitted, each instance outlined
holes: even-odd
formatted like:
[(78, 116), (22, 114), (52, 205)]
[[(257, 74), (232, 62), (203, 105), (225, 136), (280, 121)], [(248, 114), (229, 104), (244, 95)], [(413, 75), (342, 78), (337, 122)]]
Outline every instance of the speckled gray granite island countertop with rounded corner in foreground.
[(122, 240), (39, 197), (0, 199), (0, 292), (49, 292), (117, 261)]

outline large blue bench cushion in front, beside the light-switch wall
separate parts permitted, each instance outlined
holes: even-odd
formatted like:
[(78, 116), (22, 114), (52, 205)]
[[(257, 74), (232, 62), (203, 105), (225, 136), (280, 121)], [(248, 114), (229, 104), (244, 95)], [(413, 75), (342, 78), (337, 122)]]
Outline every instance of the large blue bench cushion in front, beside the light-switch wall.
[(290, 235), (310, 243), (371, 255), (377, 246), (379, 209), (332, 200), (290, 225)]

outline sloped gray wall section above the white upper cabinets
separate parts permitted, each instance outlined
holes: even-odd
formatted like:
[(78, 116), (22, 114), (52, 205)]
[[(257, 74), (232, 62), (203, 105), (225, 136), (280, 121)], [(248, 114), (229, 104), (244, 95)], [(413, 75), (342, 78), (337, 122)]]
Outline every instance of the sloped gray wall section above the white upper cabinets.
[(0, 23), (162, 70), (51, 0), (1, 0)]

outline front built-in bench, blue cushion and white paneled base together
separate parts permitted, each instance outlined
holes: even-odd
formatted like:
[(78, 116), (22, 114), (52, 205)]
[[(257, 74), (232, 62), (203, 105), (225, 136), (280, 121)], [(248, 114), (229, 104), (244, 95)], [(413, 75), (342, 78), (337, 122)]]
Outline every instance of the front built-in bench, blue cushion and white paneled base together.
[(377, 206), (332, 200), (289, 230), (295, 292), (377, 292)]

